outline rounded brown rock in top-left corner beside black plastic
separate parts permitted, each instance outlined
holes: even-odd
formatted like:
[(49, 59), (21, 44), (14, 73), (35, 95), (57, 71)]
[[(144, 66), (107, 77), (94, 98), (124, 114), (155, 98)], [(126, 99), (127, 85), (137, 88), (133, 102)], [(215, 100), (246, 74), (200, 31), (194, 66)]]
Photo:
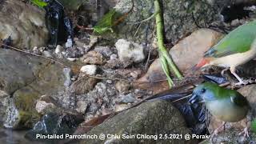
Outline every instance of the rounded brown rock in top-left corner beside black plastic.
[(1, 1), (0, 5), (0, 39), (10, 36), (20, 49), (46, 45), (48, 30), (43, 10), (16, 0)]

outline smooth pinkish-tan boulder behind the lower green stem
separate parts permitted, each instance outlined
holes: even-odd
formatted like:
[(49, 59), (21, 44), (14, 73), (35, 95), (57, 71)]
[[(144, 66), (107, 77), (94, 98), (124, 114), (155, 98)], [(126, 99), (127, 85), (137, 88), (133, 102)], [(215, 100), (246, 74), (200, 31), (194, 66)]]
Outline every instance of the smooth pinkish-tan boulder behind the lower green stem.
[[(214, 46), (220, 38), (222, 38), (222, 34), (214, 30), (196, 30), (170, 49), (170, 55), (182, 74), (189, 74), (191, 68), (202, 58), (203, 53)], [(135, 86), (142, 89), (153, 88), (154, 94), (157, 94), (169, 89), (167, 82), (162, 82), (163, 79), (166, 79), (166, 74), (162, 71), (160, 60), (156, 59), (150, 65), (147, 73), (137, 80)]]

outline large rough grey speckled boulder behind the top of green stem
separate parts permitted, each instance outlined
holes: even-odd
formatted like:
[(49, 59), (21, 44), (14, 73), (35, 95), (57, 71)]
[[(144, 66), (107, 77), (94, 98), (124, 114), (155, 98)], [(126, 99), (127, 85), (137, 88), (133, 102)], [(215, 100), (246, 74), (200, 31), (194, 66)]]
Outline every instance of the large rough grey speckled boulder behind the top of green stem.
[[(242, 2), (248, 3), (248, 1)], [(250, 2), (253, 1), (250, 0)], [(222, 23), (222, 10), (238, 3), (229, 0), (207, 0), (206, 2), (171, 0), (163, 2), (162, 10), (164, 10), (163, 18), (167, 42), (175, 44), (194, 30), (198, 30), (198, 27), (210, 27), (214, 23)], [(126, 14), (131, 7), (132, 2), (120, 0), (114, 6), (114, 10)], [(154, 18), (141, 24), (132, 25), (131, 23), (138, 23), (150, 18), (154, 14), (154, 0), (135, 0), (133, 11), (133, 13), (128, 14), (124, 22), (114, 27), (118, 34), (107, 33), (105, 37), (109, 40), (127, 38), (135, 42), (145, 42), (146, 39), (148, 42), (153, 42), (151, 38), (154, 38)], [(138, 25), (140, 25), (139, 29)]]

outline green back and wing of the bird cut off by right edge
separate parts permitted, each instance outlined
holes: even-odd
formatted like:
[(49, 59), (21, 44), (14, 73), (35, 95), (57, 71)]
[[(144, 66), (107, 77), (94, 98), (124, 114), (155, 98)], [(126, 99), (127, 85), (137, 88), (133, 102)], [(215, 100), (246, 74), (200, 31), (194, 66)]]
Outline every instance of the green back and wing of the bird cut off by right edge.
[(231, 31), (217, 45), (206, 51), (204, 57), (220, 58), (250, 50), (256, 38), (256, 21), (248, 22)]

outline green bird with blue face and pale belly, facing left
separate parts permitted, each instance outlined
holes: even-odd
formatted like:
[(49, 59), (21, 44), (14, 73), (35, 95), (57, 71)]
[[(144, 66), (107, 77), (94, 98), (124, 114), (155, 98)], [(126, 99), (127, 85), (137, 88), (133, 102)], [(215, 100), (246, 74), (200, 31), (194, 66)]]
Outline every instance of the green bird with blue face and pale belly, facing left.
[[(202, 83), (194, 89), (189, 102), (195, 103), (198, 100), (205, 102), (210, 114), (223, 122), (222, 126), (226, 122), (239, 122), (246, 118), (250, 109), (249, 102), (242, 94), (236, 90), (225, 89), (212, 82)], [(214, 134), (218, 134), (218, 130), (222, 126), (218, 127)], [(245, 137), (249, 136), (247, 126), (240, 134), (244, 134)]]

